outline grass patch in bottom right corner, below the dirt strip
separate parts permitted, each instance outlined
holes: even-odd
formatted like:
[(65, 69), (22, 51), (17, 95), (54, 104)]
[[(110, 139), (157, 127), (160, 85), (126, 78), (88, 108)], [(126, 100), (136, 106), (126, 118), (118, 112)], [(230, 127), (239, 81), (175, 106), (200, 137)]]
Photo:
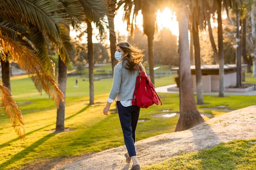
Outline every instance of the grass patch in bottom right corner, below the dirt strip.
[(180, 153), (142, 170), (255, 170), (256, 139), (221, 143), (209, 150)]

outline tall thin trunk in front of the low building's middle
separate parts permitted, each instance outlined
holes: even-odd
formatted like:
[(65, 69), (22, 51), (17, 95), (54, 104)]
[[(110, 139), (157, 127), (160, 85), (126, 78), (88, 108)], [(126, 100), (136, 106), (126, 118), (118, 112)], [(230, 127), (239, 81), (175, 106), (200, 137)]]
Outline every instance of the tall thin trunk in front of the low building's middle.
[(222, 30), (222, 18), (221, 18), (221, 5), (222, 0), (217, 0), (218, 3), (218, 49), (219, 49), (219, 97), (224, 97), (224, 47), (223, 47), (223, 30)]

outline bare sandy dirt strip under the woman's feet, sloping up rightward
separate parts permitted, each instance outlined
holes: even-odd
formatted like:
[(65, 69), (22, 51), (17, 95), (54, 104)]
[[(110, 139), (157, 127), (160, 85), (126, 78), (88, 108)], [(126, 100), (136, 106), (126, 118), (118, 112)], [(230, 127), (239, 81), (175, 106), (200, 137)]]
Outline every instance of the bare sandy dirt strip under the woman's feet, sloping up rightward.
[[(210, 119), (189, 130), (166, 133), (136, 142), (138, 160), (146, 166), (177, 155), (213, 147), (220, 142), (256, 137), (256, 105)], [(128, 170), (125, 145), (86, 156), (58, 170)]]

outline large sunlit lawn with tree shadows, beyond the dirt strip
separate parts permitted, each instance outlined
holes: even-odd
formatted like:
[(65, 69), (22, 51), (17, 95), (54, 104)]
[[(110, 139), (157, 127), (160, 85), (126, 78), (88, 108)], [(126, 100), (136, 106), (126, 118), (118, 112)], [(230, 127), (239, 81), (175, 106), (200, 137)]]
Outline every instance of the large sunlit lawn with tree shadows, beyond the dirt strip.
[[(79, 88), (74, 88), (75, 79)], [(67, 82), (67, 107), (65, 127), (69, 132), (52, 133), (55, 129), (55, 104), (47, 95), (38, 94), (32, 81), (26, 77), (13, 77), (12, 94), (23, 113), (26, 123), (26, 139), (20, 141), (12, 128), (9, 119), (0, 114), (0, 169), (21, 169), (29, 164), (43, 164), (53, 158), (81, 156), (99, 152), (112, 147), (124, 145), (122, 129), (118, 114), (103, 115), (112, 79), (101, 79), (94, 82), (96, 105), (89, 103), (89, 82), (84, 78), (69, 77)], [(173, 84), (173, 76), (155, 79), (156, 86)], [(142, 109), (140, 119), (149, 119), (137, 125), (137, 140), (145, 139), (175, 130), (178, 117), (161, 119), (151, 117), (161, 110), (179, 111), (179, 94), (160, 94), (162, 106), (151, 106)], [(209, 105), (199, 106), (199, 111), (212, 113), (215, 116), (224, 114), (221, 111), (208, 111), (200, 107), (227, 105), (230, 109), (239, 109), (256, 103), (255, 96), (204, 96)], [(247, 101), (247, 102), (244, 102)], [(111, 106), (111, 110), (114, 105)], [(207, 118), (206, 118), (207, 120)], [(26, 169), (26, 168), (25, 168)]]

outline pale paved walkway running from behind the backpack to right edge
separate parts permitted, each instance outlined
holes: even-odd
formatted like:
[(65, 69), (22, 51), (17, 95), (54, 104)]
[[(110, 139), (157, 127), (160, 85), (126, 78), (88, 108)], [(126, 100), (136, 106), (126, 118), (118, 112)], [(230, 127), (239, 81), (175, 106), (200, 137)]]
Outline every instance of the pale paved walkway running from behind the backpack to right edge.
[[(174, 94), (178, 94), (178, 91), (167, 91), (167, 88), (171, 88), (171, 87), (176, 87), (176, 84), (173, 85), (165, 85), (165, 86), (161, 86), (161, 87), (157, 87), (155, 88), (155, 91), (157, 93), (174, 93)], [(194, 93), (196, 94), (196, 93)], [(218, 95), (218, 92), (211, 92), (211, 93), (204, 93), (207, 95)], [(246, 93), (242, 93), (242, 92), (225, 92), (225, 95), (238, 95), (238, 96), (255, 96), (256, 95), (256, 91), (249, 91)]]

